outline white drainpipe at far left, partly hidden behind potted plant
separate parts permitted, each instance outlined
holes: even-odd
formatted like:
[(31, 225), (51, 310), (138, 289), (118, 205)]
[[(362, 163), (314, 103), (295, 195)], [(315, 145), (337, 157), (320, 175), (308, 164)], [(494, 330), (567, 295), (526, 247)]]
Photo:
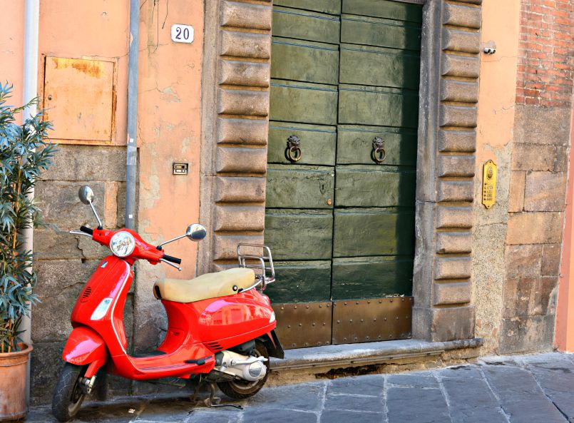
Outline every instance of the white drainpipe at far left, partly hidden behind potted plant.
[[(40, 22), (40, 0), (26, 0), (24, 9), (24, 75), (23, 75), (23, 95), (24, 104), (38, 96), (38, 39), (39, 39), (39, 22)], [(24, 121), (35, 116), (38, 112), (34, 104), (26, 108), (22, 118)], [(34, 199), (34, 189), (29, 193), (28, 198)], [(34, 251), (34, 228), (26, 228), (22, 232), (22, 248), (25, 251)], [(31, 335), (31, 312), (28, 317), (24, 317), (21, 323), (21, 329), (24, 331), (22, 340), (26, 344), (32, 343)], [(26, 375), (26, 404), (30, 399), (30, 365)]]

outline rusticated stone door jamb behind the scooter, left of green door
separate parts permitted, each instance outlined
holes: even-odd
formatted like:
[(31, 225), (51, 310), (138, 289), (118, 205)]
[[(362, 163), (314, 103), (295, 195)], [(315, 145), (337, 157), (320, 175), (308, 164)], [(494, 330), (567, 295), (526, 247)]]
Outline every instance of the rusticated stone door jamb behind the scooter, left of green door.
[(271, 2), (207, 1), (199, 273), (235, 265), (238, 243), (263, 243)]

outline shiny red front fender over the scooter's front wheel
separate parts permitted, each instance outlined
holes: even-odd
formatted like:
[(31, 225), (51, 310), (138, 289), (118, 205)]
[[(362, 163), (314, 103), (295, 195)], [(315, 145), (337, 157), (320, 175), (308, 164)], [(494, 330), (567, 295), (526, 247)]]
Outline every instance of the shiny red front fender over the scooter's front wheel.
[(68, 337), (62, 358), (73, 365), (83, 366), (94, 362), (103, 365), (108, 360), (108, 355), (108, 348), (102, 337), (89, 327), (79, 326)]

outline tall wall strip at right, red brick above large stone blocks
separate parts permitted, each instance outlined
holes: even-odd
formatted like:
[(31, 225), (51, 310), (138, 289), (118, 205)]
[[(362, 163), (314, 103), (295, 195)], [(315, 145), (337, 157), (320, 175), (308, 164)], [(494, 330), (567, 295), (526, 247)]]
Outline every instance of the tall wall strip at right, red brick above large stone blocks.
[(553, 347), (574, 72), (574, 1), (523, 0), (500, 352)]

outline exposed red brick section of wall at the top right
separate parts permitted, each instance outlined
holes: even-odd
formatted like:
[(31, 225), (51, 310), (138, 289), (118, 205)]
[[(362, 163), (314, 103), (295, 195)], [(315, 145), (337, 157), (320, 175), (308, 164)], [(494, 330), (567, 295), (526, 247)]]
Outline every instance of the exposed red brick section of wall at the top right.
[(573, 33), (573, 0), (522, 1), (516, 103), (570, 106)]

